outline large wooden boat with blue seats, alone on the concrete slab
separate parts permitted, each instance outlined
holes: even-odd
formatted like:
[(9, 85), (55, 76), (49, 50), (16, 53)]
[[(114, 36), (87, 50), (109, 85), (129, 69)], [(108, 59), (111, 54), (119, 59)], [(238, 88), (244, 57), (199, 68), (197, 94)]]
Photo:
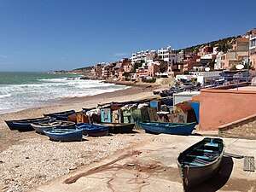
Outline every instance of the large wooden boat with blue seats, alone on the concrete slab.
[(201, 142), (187, 148), (177, 157), (177, 167), (183, 179), (183, 189), (207, 181), (216, 172), (224, 155), (224, 141), (206, 137)]

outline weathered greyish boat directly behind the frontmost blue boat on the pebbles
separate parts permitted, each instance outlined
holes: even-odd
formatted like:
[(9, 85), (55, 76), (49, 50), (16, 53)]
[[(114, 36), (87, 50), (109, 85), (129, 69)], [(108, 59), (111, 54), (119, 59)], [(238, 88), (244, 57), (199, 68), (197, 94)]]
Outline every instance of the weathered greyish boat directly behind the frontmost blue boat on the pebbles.
[(44, 134), (44, 130), (47, 130), (49, 128), (76, 129), (74, 122), (65, 121), (65, 120), (56, 120), (54, 122), (47, 122), (47, 123), (36, 122), (36, 123), (32, 123), (31, 125), (35, 131), (41, 134)]

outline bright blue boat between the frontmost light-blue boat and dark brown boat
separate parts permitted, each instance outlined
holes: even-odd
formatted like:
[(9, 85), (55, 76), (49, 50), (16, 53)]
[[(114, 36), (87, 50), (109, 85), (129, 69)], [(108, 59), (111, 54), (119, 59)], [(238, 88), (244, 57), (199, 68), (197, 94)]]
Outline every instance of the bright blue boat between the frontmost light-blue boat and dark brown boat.
[(76, 125), (79, 130), (82, 130), (84, 135), (98, 137), (108, 135), (108, 126), (80, 123)]

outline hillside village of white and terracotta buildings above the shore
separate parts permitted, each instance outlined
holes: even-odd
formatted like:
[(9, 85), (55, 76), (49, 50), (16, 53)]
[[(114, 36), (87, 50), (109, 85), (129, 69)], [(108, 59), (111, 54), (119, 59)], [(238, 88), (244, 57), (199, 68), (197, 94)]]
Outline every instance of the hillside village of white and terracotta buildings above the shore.
[[(256, 29), (236, 38), (226, 38), (187, 49), (170, 45), (158, 50), (141, 50), (113, 63), (98, 63), (91, 69), (93, 79), (154, 82), (177, 75), (204, 76), (214, 71), (256, 68)], [(206, 70), (207, 68), (207, 70)]]

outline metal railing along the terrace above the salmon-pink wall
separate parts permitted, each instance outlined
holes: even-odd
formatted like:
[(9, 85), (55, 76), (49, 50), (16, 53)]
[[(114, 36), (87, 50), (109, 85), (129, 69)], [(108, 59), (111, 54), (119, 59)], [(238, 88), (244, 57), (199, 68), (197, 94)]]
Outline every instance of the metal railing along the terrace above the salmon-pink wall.
[(253, 77), (207, 77), (203, 79), (203, 88), (218, 87), (227, 84), (236, 84), (236, 88), (243, 86), (242, 83), (250, 83)]

